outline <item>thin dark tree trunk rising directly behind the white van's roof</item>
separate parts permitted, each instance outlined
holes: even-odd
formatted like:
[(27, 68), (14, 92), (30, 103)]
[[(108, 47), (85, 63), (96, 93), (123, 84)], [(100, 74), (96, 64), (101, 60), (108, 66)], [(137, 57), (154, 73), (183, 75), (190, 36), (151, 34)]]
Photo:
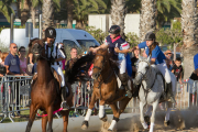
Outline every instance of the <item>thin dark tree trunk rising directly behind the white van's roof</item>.
[(66, 1), (66, 9), (67, 9), (67, 29), (73, 29), (73, 10), (74, 10), (73, 0)]

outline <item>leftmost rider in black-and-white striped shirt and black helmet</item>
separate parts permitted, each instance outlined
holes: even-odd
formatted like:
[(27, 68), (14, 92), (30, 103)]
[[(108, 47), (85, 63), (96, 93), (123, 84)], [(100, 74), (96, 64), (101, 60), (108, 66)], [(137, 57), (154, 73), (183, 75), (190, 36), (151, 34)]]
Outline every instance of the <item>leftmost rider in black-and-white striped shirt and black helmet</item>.
[(45, 30), (45, 54), (51, 62), (51, 67), (53, 67), (57, 74), (62, 77), (61, 92), (62, 92), (62, 105), (63, 110), (68, 110), (68, 105), (66, 103), (67, 87), (65, 85), (65, 77), (62, 70), (62, 61), (66, 58), (63, 45), (55, 43), (56, 30), (54, 28), (47, 28)]

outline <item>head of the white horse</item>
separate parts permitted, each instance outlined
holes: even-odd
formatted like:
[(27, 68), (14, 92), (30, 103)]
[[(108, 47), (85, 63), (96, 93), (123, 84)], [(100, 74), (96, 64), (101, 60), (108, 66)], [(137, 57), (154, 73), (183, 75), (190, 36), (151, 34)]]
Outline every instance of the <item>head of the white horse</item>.
[(150, 69), (151, 63), (150, 63), (151, 56), (147, 58), (142, 57), (139, 54), (139, 65), (136, 69), (136, 75), (134, 78), (134, 84), (140, 85), (144, 78), (146, 78), (147, 70)]

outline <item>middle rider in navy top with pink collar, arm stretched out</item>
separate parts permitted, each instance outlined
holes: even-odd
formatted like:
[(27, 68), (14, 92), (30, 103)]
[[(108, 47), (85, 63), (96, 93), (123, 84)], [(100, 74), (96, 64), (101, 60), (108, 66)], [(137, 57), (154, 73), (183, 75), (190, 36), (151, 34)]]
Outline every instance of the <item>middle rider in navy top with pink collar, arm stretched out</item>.
[(127, 95), (129, 98), (132, 97), (132, 94), (130, 91), (130, 88), (128, 86), (128, 74), (127, 74), (127, 61), (125, 55), (130, 52), (129, 43), (125, 42), (120, 35), (120, 26), (119, 25), (112, 25), (109, 30), (110, 35), (108, 35), (105, 40), (105, 43), (96, 48), (91, 48), (94, 53), (96, 53), (99, 48), (108, 48), (109, 52), (113, 54), (112, 59), (117, 61), (119, 64), (120, 73), (119, 78), (123, 85), (123, 87), (127, 90)]

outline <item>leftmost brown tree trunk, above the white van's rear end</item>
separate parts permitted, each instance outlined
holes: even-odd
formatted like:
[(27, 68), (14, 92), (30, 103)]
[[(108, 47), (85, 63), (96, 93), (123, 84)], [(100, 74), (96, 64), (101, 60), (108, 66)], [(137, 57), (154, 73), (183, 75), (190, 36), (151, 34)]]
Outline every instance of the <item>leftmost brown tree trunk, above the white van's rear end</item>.
[(23, 7), (21, 2), (20, 9), (21, 9), (21, 25), (24, 25), (30, 16), (30, 1), (24, 0)]

